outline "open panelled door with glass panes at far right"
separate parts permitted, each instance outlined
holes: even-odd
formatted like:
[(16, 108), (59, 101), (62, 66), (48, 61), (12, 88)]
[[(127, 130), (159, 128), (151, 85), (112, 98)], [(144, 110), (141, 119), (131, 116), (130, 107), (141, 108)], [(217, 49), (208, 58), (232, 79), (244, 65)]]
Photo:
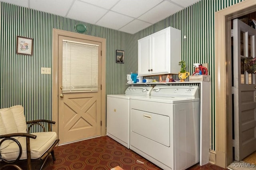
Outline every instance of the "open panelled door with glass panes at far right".
[(245, 71), (244, 59), (255, 57), (256, 30), (233, 21), (234, 147), (240, 161), (256, 150), (256, 76)]

